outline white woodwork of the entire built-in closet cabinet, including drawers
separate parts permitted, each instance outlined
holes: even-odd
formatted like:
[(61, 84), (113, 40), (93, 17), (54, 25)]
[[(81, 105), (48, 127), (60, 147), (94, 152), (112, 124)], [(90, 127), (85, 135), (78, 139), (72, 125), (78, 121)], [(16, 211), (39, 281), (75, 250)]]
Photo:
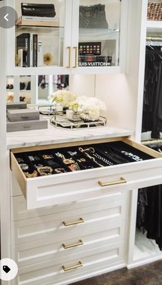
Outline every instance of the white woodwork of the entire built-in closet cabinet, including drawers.
[[(15, 1), (8, 0), (5, 3), (12, 6), (13, 2)], [(60, 2), (65, 3), (65, 1)], [(113, 0), (110, 2), (113, 3)], [(89, 73), (89, 70), (91, 73), (101, 73), (101, 70), (103, 73), (108, 73), (112, 72), (113, 68), (116, 69), (116, 67), (103, 67), (104, 70), (102, 67), (72, 68), (76, 60), (74, 52), (78, 52), (73, 47), (78, 47), (80, 38), (85, 41), (87, 38), (82, 30), (77, 32), (79, 30), (78, 13), (75, 11), (80, 4), (84, 5), (84, 1), (66, 1), (65, 33), (59, 34), (59, 41), (63, 43), (63, 56), (57, 67), (15, 67), (14, 51), (10, 52), (7, 45), (8, 72), (5, 73), (4, 56), (0, 53), (1, 66), (4, 67), (0, 81), (1, 91), (4, 94), (6, 74), (15, 76), (29, 73), (30, 75), (73, 73), (75, 70), (78, 73), (83, 71)], [(93, 142), (96, 142), (95, 136), (97, 143), (101, 144), (103, 141), (117, 140), (119, 137), (120, 140), (132, 145), (135, 150), (151, 155), (152, 159), (107, 168), (82, 170), (65, 174), (65, 176), (56, 174), (40, 177), (41, 179), (39, 177), (25, 179), (16, 163), (15, 155), (17, 152), (34, 150), (35, 143), (27, 145), (27, 148), (22, 148), (21, 144), (20, 148), (20, 137), (15, 135), (12, 147), (8, 147), (6, 152), (4, 146), (10, 145), (13, 137), (12, 134), (8, 134), (8, 143), (6, 143), (5, 124), (2, 124), (6, 117), (5, 100), (2, 98), (0, 106), (2, 137), (0, 163), (3, 170), (3, 175), (0, 176), (2, 185), (1, 258), (13, 258), (19, 266), (16, 279), (11, 282), (2, 281), (3, 285), (67, 285), (124, 266), (130, 268), (161, 258), (160, 253), (155, 253), (150, 257), (149, 255), (146, 257), (145, 254), (144, 257), (135, 259), (137, 188), (162, 183), (162, 158), (159, 153), (142, 146), (140, 142), (145, 49), (143, 27), (146, 27), (144, 25), (147, 3), (146, 0), (122, 0), (122, 5), (126, 8), (125, 10), (122, 8), (122, 19), (124, 13), (128, 11), (128, 16), (126, 17), (127, 14), (125, 14), (123, 22), (124, 30), (121, 26), (120, 37), (120, 41), (125, 41), (120, 48), (126, 47), (123, 49), (123, 54), (120, 53), (122, 60), (127, 63), (126, 74), (118, 74), (113, 78), (115, 82), (113, 98), (107, 85), (111, 78), (106, 74), (96, 77), (96, 84), (99, 84), (96, 87), (96, 94), (106, 100), (111, 108), (108, 122), (118, 127), (118, 135), (115, 133), (113, 137), (112, 134), (110, 138), (108, 134), (107, 137), (104, 135), (104, 138), (98, 139), (99, 130), (97, 134), (95, 133)], [(64, 5), (63, 7), (65, 8)], [(72, 24), (73, 21), (76, 26)], [(110, 22), (108, 24), (111, 25)], [(74, 30), (76, 29), (76, 33), (71, 32), (72, 26)], [(68, 31), (70, 31), (70, 37), (68, 37)], [(122, 35), (122, 31), (127, 31), (128, 34)], [(7, 43), (13, 45), (14, 28), (8, 30), (6, 34), (1, 30), (1, 35), (4, 43), (7, 36)], [(92, 41), (93, 36), (94, 34), (91, 34)], [(67, 69), (70, 50), (67, 49), (68, 46), (73, 51), (69, 69)], [(117, 67), (116, 71), (121, 69)], [(131, 110), (128, 118), (127, 109)], [(119, 128), (128, 128), (128, 126), (131, 130), (124, 138)], [(27, 132), (22, 140), (24, 144), (26, 144), (26, 138)], [(47, 145), (51, 142), (43, 145), (44, 139), (43, 135), (39, 149), (49, 148)], [(86, 144), (87, 142), (88, 140), (84, 141)], [(83, 141), (78, 139), (74, 144), (69, 139), (68, 144), (69, 146), (83, 144)], [(12, 148), (11, 151), (10, 148)], [(61, 184), (62, 187), (60, 187)], [(146, 253), (147, 249), (144, 251)]]

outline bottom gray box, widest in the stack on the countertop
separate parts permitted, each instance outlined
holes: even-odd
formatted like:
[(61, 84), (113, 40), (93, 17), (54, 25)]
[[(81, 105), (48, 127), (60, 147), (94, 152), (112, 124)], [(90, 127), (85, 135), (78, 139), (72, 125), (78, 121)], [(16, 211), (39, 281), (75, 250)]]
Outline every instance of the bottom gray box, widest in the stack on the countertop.
[(41, 128), (48, 128), (48, 121), (45, 119), (36, 119), (34, 121), (26, 122), (10, 122), (7, 119), (7, 132), (19, 132), (21, 130), (39, 130)]

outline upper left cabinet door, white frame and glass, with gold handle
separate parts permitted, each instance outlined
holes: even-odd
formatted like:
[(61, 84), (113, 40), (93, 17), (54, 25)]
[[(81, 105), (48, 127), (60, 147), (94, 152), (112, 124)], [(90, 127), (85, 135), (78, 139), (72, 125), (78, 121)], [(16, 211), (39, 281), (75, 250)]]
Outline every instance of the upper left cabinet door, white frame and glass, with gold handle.
[[(15, 0), (13, 8), (18, 14), (13, 30), (14, 67), (69, 73), (72, 0)], [(11, 37), (10, 31), (9, 41)]]

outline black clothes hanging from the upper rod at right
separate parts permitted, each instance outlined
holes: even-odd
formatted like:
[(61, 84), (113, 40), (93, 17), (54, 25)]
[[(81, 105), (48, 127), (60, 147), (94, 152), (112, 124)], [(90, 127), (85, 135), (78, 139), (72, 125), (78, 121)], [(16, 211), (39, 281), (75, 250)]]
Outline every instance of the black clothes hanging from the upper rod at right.
[(162, 52), (146, 47), (142, 132), (149, 130), (152, 138), (162, 131)]

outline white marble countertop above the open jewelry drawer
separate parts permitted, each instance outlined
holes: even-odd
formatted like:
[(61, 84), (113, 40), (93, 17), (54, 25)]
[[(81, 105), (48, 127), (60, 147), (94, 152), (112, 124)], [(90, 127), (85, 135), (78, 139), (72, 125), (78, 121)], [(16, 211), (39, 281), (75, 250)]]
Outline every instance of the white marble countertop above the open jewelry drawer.
[(71, 141), (84, 141), (91, 139), (103, 139), (108, 137), (126, 137), (132, 135), (131, 130), (100, 126), (80, 130), (65, 130), (55, 128), (49, 124), (43, 130), (25, 130), (21, 132), (7, 133), (7, 147), (23, 148), (27, 146), (43, 146)]

